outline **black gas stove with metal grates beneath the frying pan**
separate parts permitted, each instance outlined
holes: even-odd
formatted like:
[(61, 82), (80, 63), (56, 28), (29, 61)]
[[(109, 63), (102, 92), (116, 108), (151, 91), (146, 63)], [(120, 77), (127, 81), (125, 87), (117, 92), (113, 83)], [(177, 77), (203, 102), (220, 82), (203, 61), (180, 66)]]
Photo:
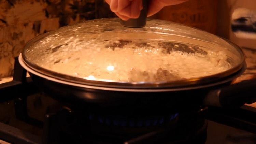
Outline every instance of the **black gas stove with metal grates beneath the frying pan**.
[(256, 143), (256, 108), (115, 113), (72, 109), (42, 93), (15, 59), (0, 84), (0, 143)]

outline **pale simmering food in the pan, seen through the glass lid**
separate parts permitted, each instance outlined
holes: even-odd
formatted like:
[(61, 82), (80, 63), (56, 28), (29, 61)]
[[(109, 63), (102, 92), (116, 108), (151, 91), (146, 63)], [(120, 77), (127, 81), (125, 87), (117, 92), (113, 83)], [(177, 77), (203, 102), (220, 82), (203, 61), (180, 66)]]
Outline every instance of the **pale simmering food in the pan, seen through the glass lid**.
[[(92, 40), (93, 41), (93, 40)], [(221, 51), (157, 40), (102, 40), (61, 45), (38, 65), (89, 80), (160, 82), (210, 76), (230, 69)], [(61, 56), (61, 57), (60, 57)]]

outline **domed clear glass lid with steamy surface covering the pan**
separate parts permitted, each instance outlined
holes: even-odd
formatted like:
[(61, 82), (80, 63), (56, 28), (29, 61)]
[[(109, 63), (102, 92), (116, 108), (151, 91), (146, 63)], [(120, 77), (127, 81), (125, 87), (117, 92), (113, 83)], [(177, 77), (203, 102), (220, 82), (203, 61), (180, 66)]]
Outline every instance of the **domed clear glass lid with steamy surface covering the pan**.
[(62, 27), (34, 38), (24, 62), (70, 82), (108, 86), (180, 86), (218, 80), (240, 70), (244, 54), (213, 34), (163, 20), (127, 28), (118, 18)]

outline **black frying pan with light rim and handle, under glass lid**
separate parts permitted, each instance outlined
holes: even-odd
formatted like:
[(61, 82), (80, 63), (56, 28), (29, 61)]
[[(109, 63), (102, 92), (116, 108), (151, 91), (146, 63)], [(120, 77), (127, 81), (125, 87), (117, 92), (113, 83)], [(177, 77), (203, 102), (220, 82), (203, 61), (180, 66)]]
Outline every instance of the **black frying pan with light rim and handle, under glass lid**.
[(42, 75), (27, 67), (22, 57), (20, 64), (29, 71), (32, 80), (51, 97), (78, 107), (97, 106), (102, 108), (118, 107), (119, 110), (168, 109), (170, 111), (197, 109), (202, 105), (239, 107), (245, 103), (256, 102), (253, 92), (256, 80), (246, 80), (232, 84), (244, 70), (214, 83), (165, 89), (124, 89), (108, 87), (83, 87), (77, 84), (63, 84), (52, 77)]

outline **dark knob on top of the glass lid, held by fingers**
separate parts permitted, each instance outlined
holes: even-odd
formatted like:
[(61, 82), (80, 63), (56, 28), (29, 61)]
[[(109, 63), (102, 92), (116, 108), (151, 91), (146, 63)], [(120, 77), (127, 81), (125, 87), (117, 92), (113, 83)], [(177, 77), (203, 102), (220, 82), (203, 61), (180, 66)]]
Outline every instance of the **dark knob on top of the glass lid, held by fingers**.
[(129, 20), (125, 21), (121, 19), (121, 24), (124, 27), (129, 28), (141, 28), (146, 25), (147, 22), (147, 10), (148, 10), (148, 0), (142, 1), (143, 9), (140, 11), (140, 16), (136, 19), (130, 18)]

